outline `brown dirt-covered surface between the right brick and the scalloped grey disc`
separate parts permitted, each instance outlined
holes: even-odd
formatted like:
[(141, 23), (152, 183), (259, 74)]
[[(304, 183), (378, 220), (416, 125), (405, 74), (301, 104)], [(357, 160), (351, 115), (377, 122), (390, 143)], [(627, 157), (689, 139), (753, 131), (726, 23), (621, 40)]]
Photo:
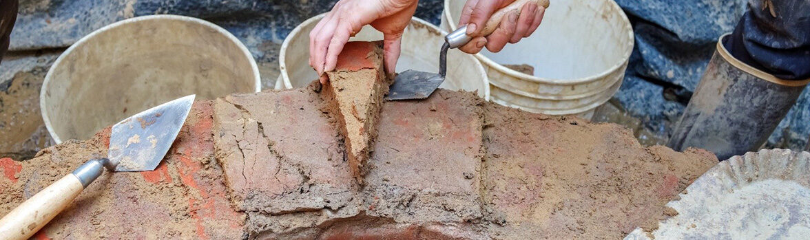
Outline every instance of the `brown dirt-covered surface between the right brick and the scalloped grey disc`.
[(616, 124), (487, 105), (485, 208), (501, 238), (624, 238), (716, 164), (706, 150), (645, 148)]

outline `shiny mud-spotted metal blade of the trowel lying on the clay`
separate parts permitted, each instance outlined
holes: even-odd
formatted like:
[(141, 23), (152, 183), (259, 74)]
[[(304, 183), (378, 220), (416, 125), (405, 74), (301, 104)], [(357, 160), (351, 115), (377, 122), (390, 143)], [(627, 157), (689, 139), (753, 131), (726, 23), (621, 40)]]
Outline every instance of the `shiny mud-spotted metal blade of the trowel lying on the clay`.
[(153, 171), (189, 116), (194, 95), (130, 116), (113, 126), (107, 158), (115, 171)]

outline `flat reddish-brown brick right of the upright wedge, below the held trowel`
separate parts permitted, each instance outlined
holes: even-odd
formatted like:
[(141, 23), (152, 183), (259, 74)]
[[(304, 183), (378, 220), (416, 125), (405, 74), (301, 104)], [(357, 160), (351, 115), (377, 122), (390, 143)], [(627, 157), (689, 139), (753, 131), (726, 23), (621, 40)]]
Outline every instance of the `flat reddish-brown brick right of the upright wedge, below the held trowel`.
[(424, 101), (387, 102), (365, 177), (369, 215), (397, 221), (481, 217), (481, 100), (438, 90)]

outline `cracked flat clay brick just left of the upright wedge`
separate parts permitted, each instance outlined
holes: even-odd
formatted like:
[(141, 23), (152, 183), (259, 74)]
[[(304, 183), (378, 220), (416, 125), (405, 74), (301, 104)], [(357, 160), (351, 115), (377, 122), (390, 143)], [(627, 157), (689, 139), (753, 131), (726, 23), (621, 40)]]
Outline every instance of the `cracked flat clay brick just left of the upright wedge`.
[[(217, 160), (234, 204), (249, 215), (251, 234), (356, 213), (356, 184), (338, 133), (318, 103), (310, 89), (217, 100)], [(278, 216), (285, 214), (309, 220), (282, 221)]]

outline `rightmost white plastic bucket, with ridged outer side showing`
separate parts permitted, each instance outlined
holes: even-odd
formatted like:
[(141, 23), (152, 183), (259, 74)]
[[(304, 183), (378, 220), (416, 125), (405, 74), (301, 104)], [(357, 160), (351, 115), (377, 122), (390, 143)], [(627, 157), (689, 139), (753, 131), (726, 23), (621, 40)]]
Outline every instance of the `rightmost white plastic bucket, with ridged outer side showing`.
[[(458, 27), (465, 2), (445, 0), (446, 27)], [(549, 115), (588, 116), (618, 91), (632, 52), (633, 28), (616, 2), (552, 0), (534, 35), (500, 53), (484, 49), (475, 57), (487, 69), (493, 102)], [(533, 66), (535, 74), (504, 66), (522, 64)]]

